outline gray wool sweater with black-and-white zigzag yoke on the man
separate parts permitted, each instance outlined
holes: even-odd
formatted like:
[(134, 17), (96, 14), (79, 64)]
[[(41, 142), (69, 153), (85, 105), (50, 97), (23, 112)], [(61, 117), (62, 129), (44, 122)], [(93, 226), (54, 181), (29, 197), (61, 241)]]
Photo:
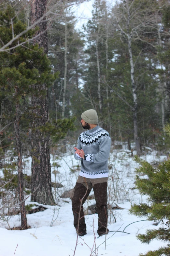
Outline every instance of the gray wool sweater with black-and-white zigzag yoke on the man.
[[(81, 160), (80, 176), (90, 179), (108, 177), (107, 160), (110, 153), (111, 139), (106, 130), (96, 126), (80, 134), (77, 148), (83, 149), (86, 160), (74, 153), (76, 160)], [(76, 150), (75, 150), (76, 151)]]

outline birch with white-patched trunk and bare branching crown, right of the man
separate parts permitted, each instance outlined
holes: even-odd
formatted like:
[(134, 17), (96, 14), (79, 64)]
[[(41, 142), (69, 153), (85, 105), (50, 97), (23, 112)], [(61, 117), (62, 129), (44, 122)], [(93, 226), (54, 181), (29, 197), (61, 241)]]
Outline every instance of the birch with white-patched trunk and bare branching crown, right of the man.
[[(137, 4), (136, 4), (137, 3)], [(145, 8), (142, 8), (142, 5)], [(129, 62), (130, 62), (130, 76), (131, 76), (131, 88), (133, 96), (133, 125), (134, 125), (134, 140), (137, 154), (141, 154), (140, 142), (138, 136), (138, 98), (137, 98), (137, 83), (135, 82), (135, 63), (133, 59), (132, 41), (134, 38), (140, 39), (139, 35), (142, 28), (150, 24), (150, 19), (145, 15), (149, 11), (149, 5), (146, 6), (145, 1), (122, 1), (120, 5), (116, 5), (113, 8), (114, 17), (116, 19), (117, 29), (120, 32), (118, 35), (123, 37), (128, 45)], [(139, 18), (139, 17), (140, 18)], [(142, 19), (143, 16), (143, 19)]]

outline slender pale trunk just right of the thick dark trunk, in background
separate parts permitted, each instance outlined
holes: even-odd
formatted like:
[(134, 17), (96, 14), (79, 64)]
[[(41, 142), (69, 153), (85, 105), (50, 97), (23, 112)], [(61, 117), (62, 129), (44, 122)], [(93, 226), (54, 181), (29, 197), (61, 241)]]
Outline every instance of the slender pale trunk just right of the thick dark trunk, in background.
[(64, 51), (64, 88), (63, 88), (63, 105), (62, 105), (62, 118), (65, 114), (65, 92), (67, 87), (67, 21), (65, 17), (65, 51)]

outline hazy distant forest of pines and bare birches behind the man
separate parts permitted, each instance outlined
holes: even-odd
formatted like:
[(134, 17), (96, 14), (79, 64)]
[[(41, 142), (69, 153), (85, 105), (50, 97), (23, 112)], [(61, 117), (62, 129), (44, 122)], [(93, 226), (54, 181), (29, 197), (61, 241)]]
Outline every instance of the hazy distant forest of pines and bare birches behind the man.
[[(112, 9), (106, 1), (94, 1), (92, 18), (81, 31), (75, 28), (75, 3), (55, 4), (50, 1), (48, 5), (55, 12), (47, 17), (48, 58), (52, 73), (59, 72), (59, 76), (49, 88), (48, 101), (50, 120), (77, 117), (77, 129), (69, 133), (67, 143), (80, 133), (81, 113), (93, 108), (113, 142), (128, 142), (129, 149), (131, 142), (137, 142), (139, 155), (153, 140), (158, 150), (166, 150), (169, 1), (135, 0), (128, 5), (120, 1)], [(27, 1), (10, 1), (10, 5), (29, 26)], [(3, 99), (1, 111), (2, 103)], [(5, 121), (1, 119), (1, 130)], [(2, 148), (8, 148), (10, 128), (1, 134)]]

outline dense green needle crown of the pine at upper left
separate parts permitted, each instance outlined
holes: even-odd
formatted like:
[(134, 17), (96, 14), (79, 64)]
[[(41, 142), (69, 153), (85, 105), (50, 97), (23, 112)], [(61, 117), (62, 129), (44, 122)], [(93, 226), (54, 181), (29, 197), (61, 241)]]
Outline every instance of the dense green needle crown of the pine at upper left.
[[(11, 18), (15, 16), (15, 13), (8, 6), (5, 11), (1, 11), (0, 15), (0, 46), (2, 47), (3, 43), (5, 44), (12, 39)], [(23, 24), (16, 17), (13, 19), (15, 35), (21, 33), (25, 28), (26, 24)], [(47, 86), (51, 86), (58, 76), (58, 73), (51, 74), (50, 60), (43, 53), (43, 48), (39, 49), (38, 44), (33, 45), (28, 41), (34, 34), (35, 29), (29, 30), (9, 46), (13, 48), (10, 52), (8, 52), (9, 47), (7, 47), (5, 52), (0, 53), (0, 63), (3, 63), (0, 67), (1, 93), (7, 94), (8, 97), (10, 94), (12, 96), (17, 86), (19, 90), (18, 101), (27, 94), (36, 94), (32, 85), (45, 83)], [(18, 46), (18, 43), (23, 42), (25, 42), (23, 45)], [(12, 98), (16, 100), (15, 97)]]

